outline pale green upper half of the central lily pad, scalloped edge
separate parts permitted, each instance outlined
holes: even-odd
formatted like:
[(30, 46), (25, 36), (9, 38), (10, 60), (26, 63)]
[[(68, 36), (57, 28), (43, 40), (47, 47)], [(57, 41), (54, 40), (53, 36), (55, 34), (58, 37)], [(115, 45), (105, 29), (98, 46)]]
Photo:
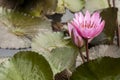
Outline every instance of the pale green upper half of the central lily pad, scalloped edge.
[(49, 53), (57, 47), (65, 47), (68, 41), (63, 39), (64, 34), (60, 32), (40, 32), (32, 41), (32, 48), (35, 51)]

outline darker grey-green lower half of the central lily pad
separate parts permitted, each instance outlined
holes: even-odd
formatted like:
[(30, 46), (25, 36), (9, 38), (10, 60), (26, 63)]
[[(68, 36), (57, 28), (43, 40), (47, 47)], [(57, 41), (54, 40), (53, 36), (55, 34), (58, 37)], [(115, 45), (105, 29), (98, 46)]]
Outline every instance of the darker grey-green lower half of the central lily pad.
[(70, 69), (72, 71), (75, 68), (77, 52), (73, 48), (56, 48), (44, 56), (50, 63), (54, 74), (60, 73), (65, 69)]

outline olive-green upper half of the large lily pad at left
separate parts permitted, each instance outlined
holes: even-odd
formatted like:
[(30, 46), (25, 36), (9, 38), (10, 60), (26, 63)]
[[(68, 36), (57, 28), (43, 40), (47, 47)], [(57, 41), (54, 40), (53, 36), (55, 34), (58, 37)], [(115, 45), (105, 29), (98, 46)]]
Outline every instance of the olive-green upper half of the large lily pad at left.
[(32, 17), (26, 13), (20, 13), (7, 9), (0, 14), (0, 22), (9, 28), (9, 31), (23, 36), (35, 35), (40, 29), (51, 29), (51, 22), (45, 18)]

